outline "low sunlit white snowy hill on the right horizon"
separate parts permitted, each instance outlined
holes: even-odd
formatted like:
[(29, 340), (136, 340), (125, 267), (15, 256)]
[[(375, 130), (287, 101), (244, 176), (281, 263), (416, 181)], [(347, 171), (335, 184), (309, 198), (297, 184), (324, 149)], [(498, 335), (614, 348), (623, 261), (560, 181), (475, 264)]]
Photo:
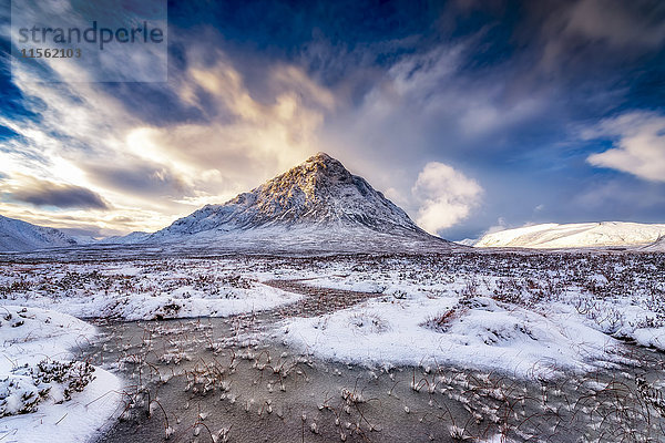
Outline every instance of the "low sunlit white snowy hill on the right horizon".
[(480, 248), (586, 248), (648, 245), (665, 235), (665, 225), (624, 222), (544, 224), (484, 235)]

